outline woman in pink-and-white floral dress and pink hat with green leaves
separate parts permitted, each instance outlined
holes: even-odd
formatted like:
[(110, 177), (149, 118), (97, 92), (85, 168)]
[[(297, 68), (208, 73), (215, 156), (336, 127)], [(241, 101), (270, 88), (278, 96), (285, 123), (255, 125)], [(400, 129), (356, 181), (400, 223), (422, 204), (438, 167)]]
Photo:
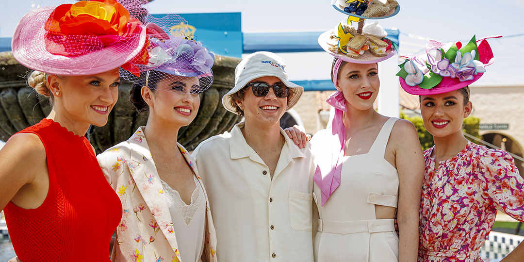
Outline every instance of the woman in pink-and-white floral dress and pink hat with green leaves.
[[(497, 210), (524, 222), (524, 180), (513, 158), (462, 134), (472, 112), (468, 85), (493, 63), (493, 53), (485, 39), (475, 37), (466, 45), (430, 40), (426, 50), (408, 57), (397, 74), (406, 92), (420, 96), (424, 126), (435, 144), (424, 151), (418, 260), (480, 261)], [(523, 258), (519, 245), (503, 261)]]

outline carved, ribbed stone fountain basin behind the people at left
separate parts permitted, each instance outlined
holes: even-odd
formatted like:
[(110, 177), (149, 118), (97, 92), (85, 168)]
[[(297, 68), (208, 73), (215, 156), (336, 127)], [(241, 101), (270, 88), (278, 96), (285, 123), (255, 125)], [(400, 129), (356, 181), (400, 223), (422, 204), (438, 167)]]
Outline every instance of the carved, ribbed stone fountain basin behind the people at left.
[[(193, 150), (201, 141), (231, 129), (240, 118), (225, 110), (221, 99), (235, 83), (235, 67), (239, 58), (215, 55), (214, 81), (200, 93), (200, 108), (194, 121), (182, 127), (178, 141)], [(0, 52), (0, 140), (7, 139), (28, 126), (34, 125), (49, 112), (49, 99), (27, 85), (24, 77), (29, 69), (19, 64), (12, 52)], [(118, 87), (118, 102), (109, 114), (105, 126), (91, 126), (86, 134), (97, 154), (127, 140), (139, 126), (145, 126), (147, 113), (139, 114), (129, 102), (132, 83), (122, 79)]]

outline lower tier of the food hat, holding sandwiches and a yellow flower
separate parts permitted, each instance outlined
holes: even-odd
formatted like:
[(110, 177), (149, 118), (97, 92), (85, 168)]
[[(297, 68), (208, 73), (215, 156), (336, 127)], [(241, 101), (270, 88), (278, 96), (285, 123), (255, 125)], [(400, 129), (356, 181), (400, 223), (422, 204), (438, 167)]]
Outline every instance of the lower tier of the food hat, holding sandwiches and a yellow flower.
[[(358, 20), (358, 19), (356, 19)], [(351, 26), (356, 21), (351, 16), (333, 30), (319, 37), (319, 44), (332, 56), (352, 63), (376, 63), (395, 54), (395, 44), (386, 38), (387, 32), (375, 21), (365, 25), (362, 34)]]

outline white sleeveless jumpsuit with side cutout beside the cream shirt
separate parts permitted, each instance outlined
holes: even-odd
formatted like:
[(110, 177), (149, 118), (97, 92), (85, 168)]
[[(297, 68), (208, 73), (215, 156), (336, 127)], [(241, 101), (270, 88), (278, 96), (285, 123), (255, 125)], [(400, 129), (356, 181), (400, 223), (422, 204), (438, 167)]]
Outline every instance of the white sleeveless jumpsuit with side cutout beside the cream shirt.
[(394, 221), (375, 216), (375, 205), (397, 207), (398, 173), (384, 159), (397, 120), (388, 119), (367, 154), (344, 157), (340, 185), (324, 206), (314, 184), (320, 217), (313, 244), (315, 262), (398, 261)]

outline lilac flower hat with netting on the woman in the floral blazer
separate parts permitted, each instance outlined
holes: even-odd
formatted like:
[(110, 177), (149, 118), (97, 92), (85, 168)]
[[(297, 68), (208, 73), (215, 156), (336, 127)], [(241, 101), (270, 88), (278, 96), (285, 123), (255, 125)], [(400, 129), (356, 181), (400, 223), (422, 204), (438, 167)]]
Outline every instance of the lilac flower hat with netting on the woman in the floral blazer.
[[(185, 21), (176, 14), (156, 18), (148, 16), (147, 63), (130, 64), (121, 69), (121, 76), (135, 84), (154, 88), (155, 83), (167, 79), (179, 83), (183, 78), (198, 78), (198, 86), (192, 89), (171, 89), (178, 93), (199, 93), (213, 83), (214, 54), (192, 36), (185, 36)], [(131, 69), (131, 70), (130, 70)]]

